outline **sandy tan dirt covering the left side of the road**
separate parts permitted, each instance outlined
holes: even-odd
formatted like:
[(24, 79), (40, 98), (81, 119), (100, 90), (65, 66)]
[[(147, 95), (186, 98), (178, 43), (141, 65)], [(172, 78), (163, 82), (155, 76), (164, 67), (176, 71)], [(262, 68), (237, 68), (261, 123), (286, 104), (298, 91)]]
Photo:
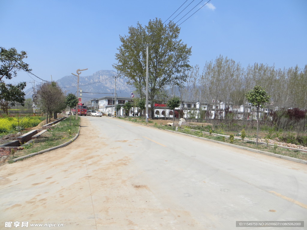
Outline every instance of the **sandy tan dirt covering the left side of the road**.
[(8, 221), (64, 224), (50, 229), (65, 230), (171, 229), (177, 218), (190, 229), (188, 213), (155, 202), (150, 189), (127, 174), (130, 157), (93, 130), (84, 119), (69, 146), (0, 168), (0, 229)]

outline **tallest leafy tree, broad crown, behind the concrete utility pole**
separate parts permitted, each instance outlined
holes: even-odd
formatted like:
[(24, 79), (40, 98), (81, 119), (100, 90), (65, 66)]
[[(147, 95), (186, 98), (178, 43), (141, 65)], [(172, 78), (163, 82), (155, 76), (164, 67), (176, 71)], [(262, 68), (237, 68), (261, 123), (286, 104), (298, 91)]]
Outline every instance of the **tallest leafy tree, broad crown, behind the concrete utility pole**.
[(115, 54), (118, 63), (113, 67), (133, 85), (139, 95), (145, 95), (146, 87), (146, 44), (149, 48), (148, 97), (151, 105), (151, 117), (154, 113), (154, 100), (165, 86), (179, 85), (186, 80), (185, 71), (191, 48), (179, 39), (180, 28), (173, 22), (164, 26), (161, 19), (149, 21), (143, 27), (129, 27), (128, 36), (120, 36), (122, 45)]

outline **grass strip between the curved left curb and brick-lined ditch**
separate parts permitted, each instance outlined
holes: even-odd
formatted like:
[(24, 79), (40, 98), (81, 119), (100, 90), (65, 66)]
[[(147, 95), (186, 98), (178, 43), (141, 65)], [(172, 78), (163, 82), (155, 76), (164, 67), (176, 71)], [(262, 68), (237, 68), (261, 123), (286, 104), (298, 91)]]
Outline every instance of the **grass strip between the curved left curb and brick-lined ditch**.
[(79, 131), (79, 125), (80, 118), (78, 121), (76, 121), (76, 119), (71, 119), (71, 126), (69, 125), (69, 118), (64, 119), (52, 127), (52, 130), (48, 130), (43, 133), (39, 139), (34, 140), (32, 143), (27, 145), (23, 150), (16, 151), (14, 157), (11, 156), (9, 163), (13, 162), (13, 158), (64, 144), (76, 136)]

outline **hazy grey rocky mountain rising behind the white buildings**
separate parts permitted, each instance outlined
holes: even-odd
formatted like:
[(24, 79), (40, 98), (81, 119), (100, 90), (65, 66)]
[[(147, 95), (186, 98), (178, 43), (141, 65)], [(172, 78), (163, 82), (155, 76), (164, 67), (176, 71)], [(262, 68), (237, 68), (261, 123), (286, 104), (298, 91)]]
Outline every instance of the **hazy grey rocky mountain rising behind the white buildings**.
[[(89, 101), (91, 98), (111, 96), (112, 93), (114, 95), (114, 76), (117, 76), (117, 73), (112, 70), (100, 70), (90, 76), (83, 76), (82, 72), (79, 78), (79, 91), (82, 89), (82, 102)], [(69, 93), (75, 94), (77, 91), (76, 76), (65, 76), (56, 82), (66, 95)], [(127, 79), (121, 77), (116, 79), (116, 94), (118, 97), (130, 97), (130, 93), (133, 90), (133, 87), (127, 85)], [(32, 98), (33, 89), (26, 90), (25, 94), (25, 98)]]

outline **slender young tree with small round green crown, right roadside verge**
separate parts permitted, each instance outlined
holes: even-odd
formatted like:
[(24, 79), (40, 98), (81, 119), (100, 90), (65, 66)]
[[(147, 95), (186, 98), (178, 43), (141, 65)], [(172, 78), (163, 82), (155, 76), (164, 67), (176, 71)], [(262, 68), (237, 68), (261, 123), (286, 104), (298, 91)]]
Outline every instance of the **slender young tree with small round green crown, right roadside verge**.
[(254, 89), (250, 90), (245, 96), (247, 101), (250, 102), (253, 106), (255, 106), (257, 110), (257, 146), (259, 138), (259, 111), (263, 107), (263, 105), (265, 105), (265, 103), (269, 102), (270, 96), (261, 86), (254, 86)]

